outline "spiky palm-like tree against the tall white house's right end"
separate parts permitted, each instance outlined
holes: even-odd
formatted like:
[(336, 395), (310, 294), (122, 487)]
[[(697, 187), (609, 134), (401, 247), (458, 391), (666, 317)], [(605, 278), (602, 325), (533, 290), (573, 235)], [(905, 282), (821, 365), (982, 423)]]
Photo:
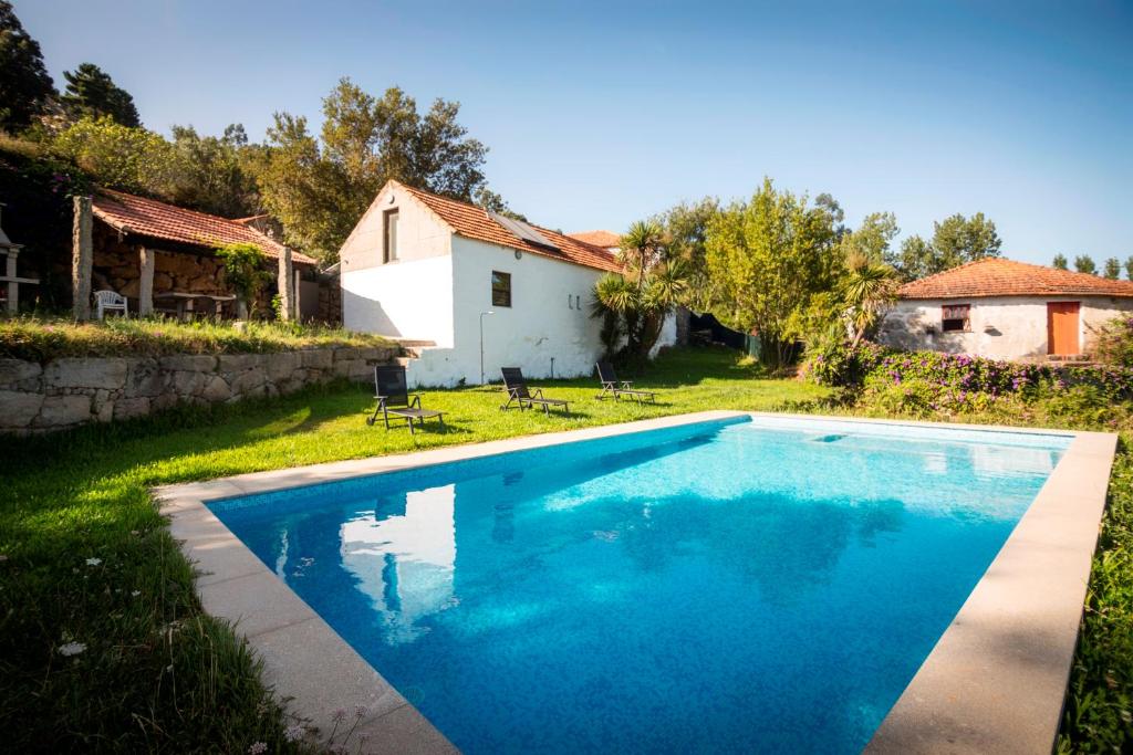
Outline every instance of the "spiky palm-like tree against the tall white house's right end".
[(594, 316), (603, 318), (607, 352), (628, 361), (649, 355), (661, 337), (665, 317), (683, 303), (689, 291), (688, 267), (674, 256), (665, 229), (656, 221), (633, 223), (622, 234), (619, 252), (624, 269), (603, 276), (594, 288)]

